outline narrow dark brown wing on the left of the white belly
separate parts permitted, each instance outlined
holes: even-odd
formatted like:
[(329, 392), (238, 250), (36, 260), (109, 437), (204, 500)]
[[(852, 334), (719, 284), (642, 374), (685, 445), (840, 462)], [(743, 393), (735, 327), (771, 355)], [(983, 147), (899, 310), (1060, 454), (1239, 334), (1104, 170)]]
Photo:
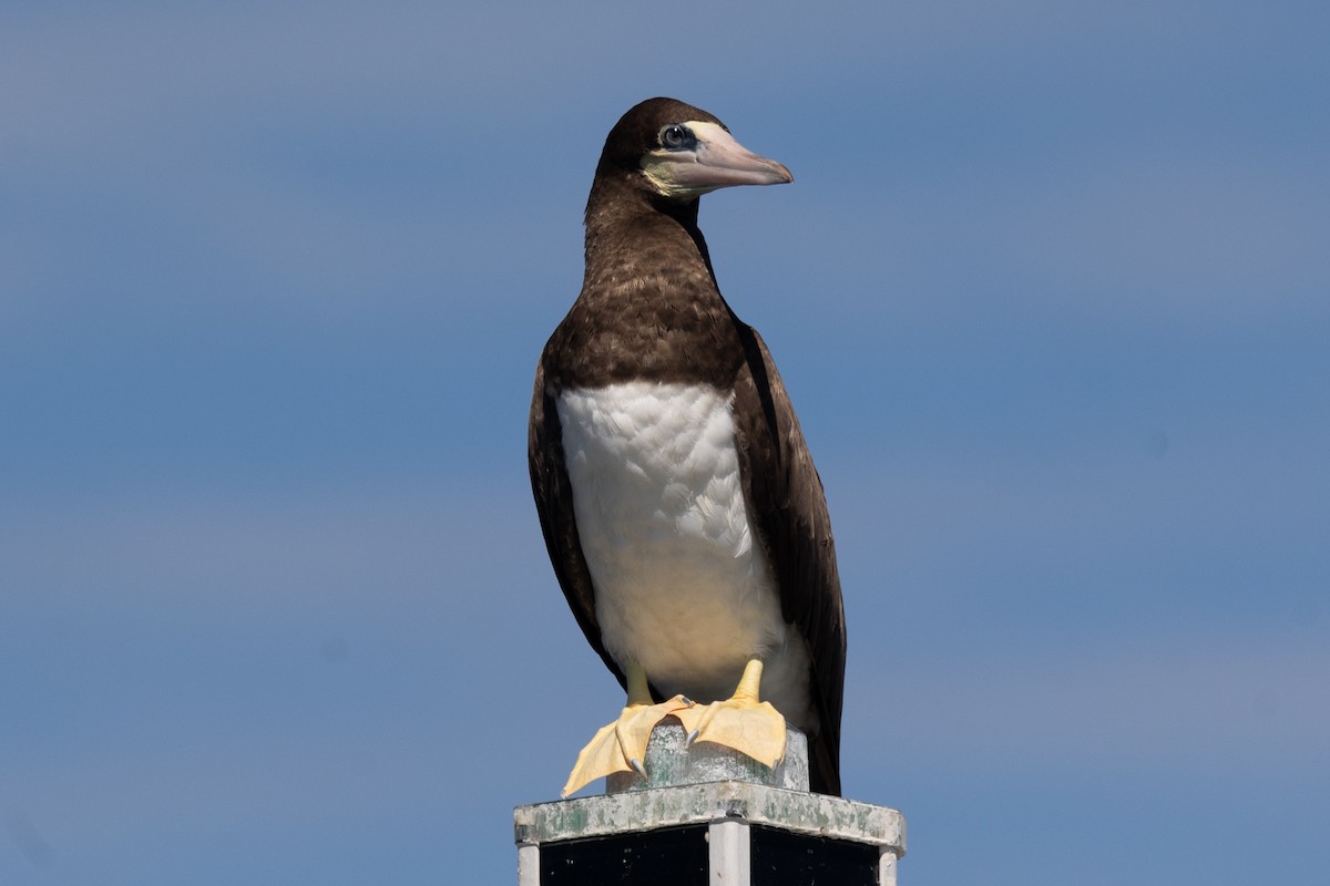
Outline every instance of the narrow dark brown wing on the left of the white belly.
[(587, 642), (605, 662), (620, 685), (625, 685), (624, 672), (605, 651), (596, 622), (596, 594), (591, 573), (583, 557), (573, 517), (573, 487), (564, 468), (564, 436), (559, 425), (555, 399), (545, 389), (544, 365), (536, 367), (536, 388), (531, 396), (531, 421), (527, 426), (527, 465), (531, 469), (531, 491), (540, 513), (540, 529), (545, 535), (545, 549), (555, 567), (568, 606), (587, 635)]

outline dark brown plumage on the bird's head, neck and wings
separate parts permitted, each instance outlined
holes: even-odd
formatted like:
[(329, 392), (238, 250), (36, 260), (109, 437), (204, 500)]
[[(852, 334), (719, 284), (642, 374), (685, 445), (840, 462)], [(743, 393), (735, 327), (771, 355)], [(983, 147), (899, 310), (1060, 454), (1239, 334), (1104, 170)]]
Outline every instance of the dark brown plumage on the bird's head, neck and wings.
[[(664, 194), (644, 174), (642, 158), (660, 150), (664, 128), (684, 121), (722, 126), (697, 108), (654, 98), (629, 110), (606, 138), (587, 205), (583, 290), (536, 371), (528, 445), (532, 489), (573, 615), (624, 683), (621, 663), (606, 651), (597, 623), (557, 399), (569, 389), (628, 381), (733, 391), (745, 505), (771, 565), (781, 612), (798, 626), (811, 660), (815, 720), (795, 723), (810, 737), (811, 788), (839, 794), (845, 622), (822, 482), (766, 345), (720, 294), (697, 227), (697, 197)], [(789, 181), (783, 167), (771, 166), (785, 174), (773, 181)]]

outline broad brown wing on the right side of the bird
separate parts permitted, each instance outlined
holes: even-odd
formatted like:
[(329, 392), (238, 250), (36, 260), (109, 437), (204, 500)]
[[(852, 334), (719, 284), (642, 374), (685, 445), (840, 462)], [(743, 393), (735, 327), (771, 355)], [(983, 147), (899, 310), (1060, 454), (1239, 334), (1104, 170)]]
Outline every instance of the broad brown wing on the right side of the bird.
[(841, 705), (845, 695), (845, 610), (822, 480), (799, 420), (761, 336), (735, 319), (745, 367), (734, 384), (739, 466), (749, 506), (777, 586), (785, 620), (797, 624), (813, 658), (821, 732), (810, 737), (811, 788), (841, 793)]

